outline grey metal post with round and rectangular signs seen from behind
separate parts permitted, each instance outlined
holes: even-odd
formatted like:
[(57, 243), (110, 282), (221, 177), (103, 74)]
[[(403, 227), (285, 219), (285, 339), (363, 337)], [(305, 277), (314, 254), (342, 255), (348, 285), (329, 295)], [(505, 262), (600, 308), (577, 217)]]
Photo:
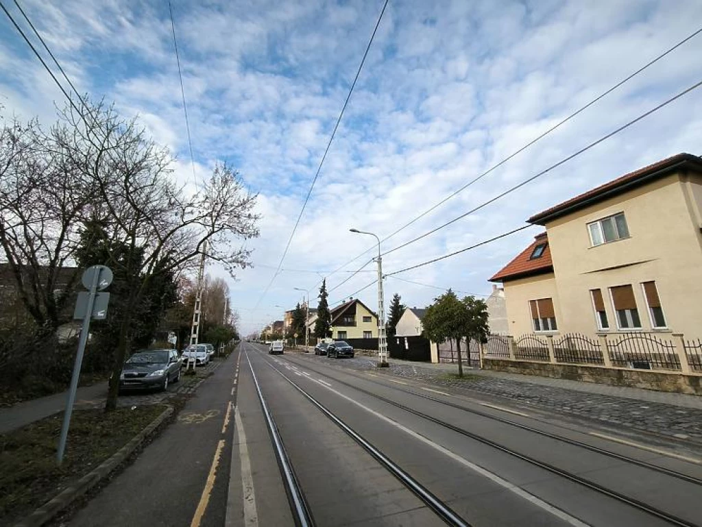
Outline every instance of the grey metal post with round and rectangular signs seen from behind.
[(61, 436), (58, 440), (58, 462), (62, 462), (63, 454), (66, 450), (66, 439), (68, 437), (68, 428), (71, 424), (71, 414), (73, 413), (73, 404), (76, 400), (76, 390), (78, 389), (78, 378), (81, 374), (81, 365), (83, 363), (83, 354), (88, 342), (88, 331), (90, 330), (91, 319), (104, 320), (107, 318), (107, 303), (110, 302), (110, 293), (98, 293), (112, 283), (112, 271), (105, 265), (93, 265), (88, 267), (83, 273), (83, 285), (88, 289), (88, 292), (78, 294), (76, 309), (73, 313), (73, 318), (83, 320), (81, 327), (81, 336), (78, 342), (78, 352), (76, 353), (76, 361), (73, 366), (73, 375), (71, 377), (71, 386), (68, 389), (68, 399), (66, 401), (66, 411), (63, 415), (63, 425), (61, 427)]

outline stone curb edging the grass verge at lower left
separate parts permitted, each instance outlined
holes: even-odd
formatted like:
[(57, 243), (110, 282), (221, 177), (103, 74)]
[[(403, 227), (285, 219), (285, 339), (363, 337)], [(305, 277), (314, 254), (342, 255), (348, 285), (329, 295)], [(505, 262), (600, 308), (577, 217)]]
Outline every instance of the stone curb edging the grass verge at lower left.
[(102, 480), (107, 478), (110, 473), (117, 468), (124, 460), (134, 453), (146, 439), (159, 427), (163, 422), (173, 415), (173, 406), (168, 406), (166, 410), (154, 419), (145, 429), (134, 436), (131, 441), (114, 453), (110, 458), (102, 462), (102, 464), (93, 469), (72, 486), (65, 488), (55, 498), (52, 498), (44, 505), (36, 509), (32, 514), (29, 514), (25, 519), (15, 524), (15, 527), (41, 527), (46, 522), (53, 519), (60, 512), (67, 509), (72, 503), (90, 491)]

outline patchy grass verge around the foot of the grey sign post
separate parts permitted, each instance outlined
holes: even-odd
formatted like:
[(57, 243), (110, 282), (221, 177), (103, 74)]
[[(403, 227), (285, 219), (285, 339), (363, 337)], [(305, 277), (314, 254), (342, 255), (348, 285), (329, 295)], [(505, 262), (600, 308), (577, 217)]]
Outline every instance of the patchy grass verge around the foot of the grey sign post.
[(63, 414), (0, 434), (0, 523), (15, 523), (91, 472), (157, 418), (166, 406), (73, 412), (62, 465), (56, 448)]

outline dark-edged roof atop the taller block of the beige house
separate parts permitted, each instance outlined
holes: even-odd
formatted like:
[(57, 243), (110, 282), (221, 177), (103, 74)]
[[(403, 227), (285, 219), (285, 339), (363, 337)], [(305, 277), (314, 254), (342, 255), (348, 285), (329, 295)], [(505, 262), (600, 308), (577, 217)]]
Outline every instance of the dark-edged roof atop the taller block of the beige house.
[(529, 223), (536, 225), (545, 225), (546, 222), (570, 214), (578, 209), (597, 203), (612, 196), (622, 194), (635, 187), (640, 187), (651, 180), (663, 178), (675, 171), (680, 171), (684, 168), (691, 168), (695, 171), (702, 172), (702, 157), (692, 154), (676, 154), (656, 163), (639, 168), (637, 171), (622, 175), (616, 180), (612, 180), (604, 185), (588, 190), (579, 196), (575, 196), (561, 204), (552, 206), (543, 212), (535, 214), (527, 220)]

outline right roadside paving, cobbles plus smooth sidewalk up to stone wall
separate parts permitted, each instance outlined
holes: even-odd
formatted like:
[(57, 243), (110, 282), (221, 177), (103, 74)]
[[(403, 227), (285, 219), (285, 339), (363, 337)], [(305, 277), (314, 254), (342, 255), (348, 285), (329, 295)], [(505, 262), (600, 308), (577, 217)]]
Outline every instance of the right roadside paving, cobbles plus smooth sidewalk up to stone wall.
[[(355, 370), (383, 372), (376, 368), (376, 360), (368, 357), (320, 359)], [(472, 375), (470, 380), (458, 380), (449, 377), (448, 373), (458, 370), (449, 364), (393, 360), (388, 370), (388, 375), (500, 396), (524, 406), (595, 420), (613, 429), (640, 430), (689, 441), (702, 448), (702, 397), (698, 396), (472, 369), (465, 371)]]

